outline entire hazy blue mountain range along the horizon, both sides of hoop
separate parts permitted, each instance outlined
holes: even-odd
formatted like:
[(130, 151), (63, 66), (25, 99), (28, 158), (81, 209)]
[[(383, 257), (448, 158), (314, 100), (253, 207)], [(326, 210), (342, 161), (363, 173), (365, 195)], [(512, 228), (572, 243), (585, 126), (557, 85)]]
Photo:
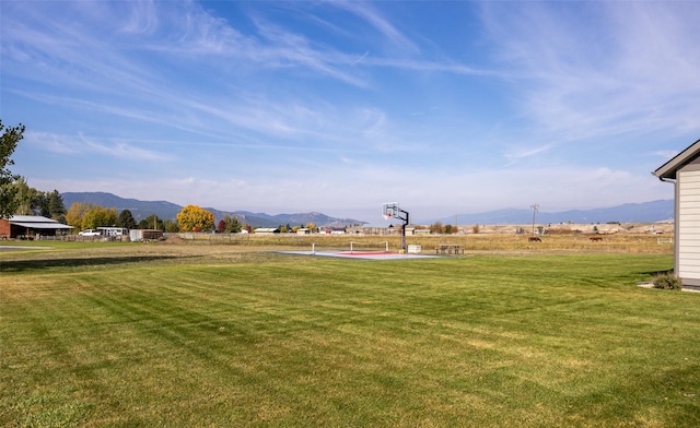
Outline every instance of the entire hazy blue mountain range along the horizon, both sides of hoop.
[[(167, 201), (140, 201), (137, 199), (125, 199), (106, 192), (66, 192), (61, 193), (63, 204), (69, 207), (74, 202), (92, 203), (105, 207), (114, 207), (117, 213), (129, 210), (133, 218), (139, 222), (149, 215), (155, 214), (162, 219), (175, 219), (183, 206)], [(202, 206), (203, 207), (203, 206)], [(353, 218), (330, 217), (323, 213), (296, 213), (269, 215), (265, 213), (252, 213), (248, 211), (221, 211), (212, 207), (203, 207), (211, 212), (217, 221), (226, 215), (236, 216), (242, 223), (247, 223), (255, 227), (277, 227), (280, 225), (306, 225), (313, 223), (316, 226), (343, 227), (360, 225), (368, 222)], [(508, 224), (530, 224), (533, 222), (533, 210), (505, 209), (489, 211), (476, 214), (456, 214), (455, 216), (423, 219), (413, 222), (417, 224), (443, 224), (460, 225), (508, 225)], [(622, 205), (593, 209), (593, 210), (571, 210), (562, 212), (536, 213), (535, 221), (539, 224), (557, 223), (654, 223), (672, 221), (674, 218), (674, 201), (660, 200), (643, 203), (627, 203)], [(378, 223), (378, 222), (376, 222)]]

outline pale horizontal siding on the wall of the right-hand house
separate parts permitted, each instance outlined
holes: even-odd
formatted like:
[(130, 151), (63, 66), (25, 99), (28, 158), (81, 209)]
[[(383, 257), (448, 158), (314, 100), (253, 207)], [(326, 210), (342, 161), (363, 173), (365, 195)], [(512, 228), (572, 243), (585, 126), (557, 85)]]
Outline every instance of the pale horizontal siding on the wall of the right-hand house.
[(678, 171), (676, 274), (685, 284), (700, 285), (700, 165)]

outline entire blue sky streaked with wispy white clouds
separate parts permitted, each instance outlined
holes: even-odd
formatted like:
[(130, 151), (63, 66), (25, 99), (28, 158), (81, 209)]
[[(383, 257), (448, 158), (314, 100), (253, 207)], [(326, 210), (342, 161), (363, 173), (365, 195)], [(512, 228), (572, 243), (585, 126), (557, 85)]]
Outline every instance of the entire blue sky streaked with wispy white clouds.
[(672, 199), (700, 2), (1, 1), (13, 171), (381, 221)]

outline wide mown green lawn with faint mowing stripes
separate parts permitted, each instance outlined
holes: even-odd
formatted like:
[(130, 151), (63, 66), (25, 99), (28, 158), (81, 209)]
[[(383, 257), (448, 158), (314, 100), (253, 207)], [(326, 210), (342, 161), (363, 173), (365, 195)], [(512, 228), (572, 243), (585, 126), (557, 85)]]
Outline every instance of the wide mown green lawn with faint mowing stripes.
[(700, 426), (668, 253), (49, 246), (0, 253), (0, 426)]

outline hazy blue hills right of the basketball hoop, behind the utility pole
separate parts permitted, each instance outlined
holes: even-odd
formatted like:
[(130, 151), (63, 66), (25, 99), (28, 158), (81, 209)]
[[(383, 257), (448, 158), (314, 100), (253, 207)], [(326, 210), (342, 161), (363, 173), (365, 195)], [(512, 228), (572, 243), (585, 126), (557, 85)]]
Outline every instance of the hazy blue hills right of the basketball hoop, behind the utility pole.
[[(538, 211), (536, 222), (539, 224), (557, 223), (653, 223), (674, 218), (674, 201), (661, 200), (643, 203), (594, 209), (571, 210), (561, 212)], [(454, 224), (455, 216), (435, 219), (442, 224)], [(433, 222), (425, 222), (432, 224)], [(533, 222), (533, 210), (498, 210), (478, 214), (457, 214), (460, 225), (509, 225), (529, 224)]]

